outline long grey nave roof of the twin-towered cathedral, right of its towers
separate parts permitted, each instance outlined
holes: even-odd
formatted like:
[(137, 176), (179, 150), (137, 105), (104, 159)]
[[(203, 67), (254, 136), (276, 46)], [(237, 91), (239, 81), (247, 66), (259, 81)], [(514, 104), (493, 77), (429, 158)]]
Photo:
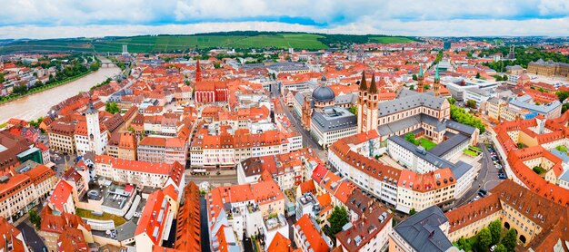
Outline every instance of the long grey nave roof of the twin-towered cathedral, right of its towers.
[(387, 102), (379, 102), (378, 115), (379, 117), (383, 117), (399, 111), (411, 110), (420, 106), (440, 110), (444, 101), (445, 99), (443, 97), (435, 97), (428, 93), (402, 90), (399, 92), (397, 99)]

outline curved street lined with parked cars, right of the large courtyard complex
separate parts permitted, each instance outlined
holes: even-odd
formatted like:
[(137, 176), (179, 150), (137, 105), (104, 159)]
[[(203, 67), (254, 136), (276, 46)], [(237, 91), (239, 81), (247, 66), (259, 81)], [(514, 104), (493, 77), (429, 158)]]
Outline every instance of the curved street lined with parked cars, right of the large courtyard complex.
[(478, 144), (478, 148), (483, 150), (482, 166), (478, 173), (478, 179), (474, 180), (472, 187), (464, 194), (461, 199), (454, 202), (454, 207), (459, 207), (468, 203), (478, 195), (479, 189), (494, 189), (502, 180), (498, 179), (498, 169), (495, 168), (494, 162), (490, 159), (490, 152), (483, 143)]

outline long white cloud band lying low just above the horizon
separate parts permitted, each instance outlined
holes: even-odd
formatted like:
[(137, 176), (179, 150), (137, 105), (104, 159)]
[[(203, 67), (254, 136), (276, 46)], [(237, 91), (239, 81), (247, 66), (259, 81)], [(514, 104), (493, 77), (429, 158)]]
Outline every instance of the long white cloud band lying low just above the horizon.
[(329, 34), (389, 34), (410, 36), (511, 36), (569, 34), (569, 18), (530, 20), (379, 20), (366, 17), (358, 23), (321, 28), (276, 22), (231, 22), (165, 25), (4, 26), (0, 38), (59, 38), (129, 36), (140, 34), (196, 34), (219, 31), (291, 31)]

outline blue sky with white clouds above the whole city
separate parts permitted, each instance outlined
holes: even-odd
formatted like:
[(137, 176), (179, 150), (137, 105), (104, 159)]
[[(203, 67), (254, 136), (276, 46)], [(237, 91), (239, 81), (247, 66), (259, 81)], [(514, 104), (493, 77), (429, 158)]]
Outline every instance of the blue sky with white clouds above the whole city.
[(0, 0), (0, 39), (292, 31), (569, 35), (569, 0)]

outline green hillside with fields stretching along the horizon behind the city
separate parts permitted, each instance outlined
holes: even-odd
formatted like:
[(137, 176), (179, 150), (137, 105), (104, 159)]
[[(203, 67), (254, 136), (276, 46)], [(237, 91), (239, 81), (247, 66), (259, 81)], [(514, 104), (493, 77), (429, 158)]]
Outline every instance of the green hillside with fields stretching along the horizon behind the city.
[(128, 44), (131, 53), (158, 53), (212, 48), (294, 48), (319, 50), (332, 46), (364, 43), (407, 43), (413, 38), (384, 35), (305, 34), (269, 32), (229, 32), (194, 35), (145, 35), (101, 39), (50, 39), (15, 41), (0, 46), (0, 53), (14, 52), (96, 52), (120, 53)]

